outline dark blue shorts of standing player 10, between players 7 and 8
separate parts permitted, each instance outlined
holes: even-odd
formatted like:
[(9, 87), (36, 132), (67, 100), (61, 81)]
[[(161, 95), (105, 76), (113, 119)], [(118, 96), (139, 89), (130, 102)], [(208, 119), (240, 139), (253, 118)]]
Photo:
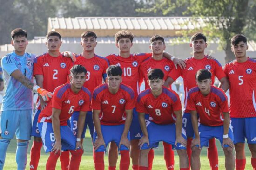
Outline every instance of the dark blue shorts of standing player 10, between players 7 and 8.
[[(146, 122), (148, 121), (148, 118), (149, 118), (149, 115), (145, 114)], [(130, 130), (131, 140), (141, 139), (142, 131), (141, 131), (141, 126), (139, 122), (139, 115), (135, 108), (133, 109), (133, 119), (132, 119), (132, 123), (129, 130)]]

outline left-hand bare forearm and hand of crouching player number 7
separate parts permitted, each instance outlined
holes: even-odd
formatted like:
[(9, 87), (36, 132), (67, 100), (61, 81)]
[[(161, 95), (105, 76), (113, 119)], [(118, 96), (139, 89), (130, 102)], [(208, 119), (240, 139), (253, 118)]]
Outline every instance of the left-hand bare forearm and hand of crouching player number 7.
[(94, 122), (94, 128), (97, 133), (97, 139), (94, 142), (94, 150), (96, 151), (101, 145), (105, 145), (103, 135), (101, 132), (101, 121), (99, 118), (101, 111), (100, 110), (94, 110), (93, 109), (93, 122)]

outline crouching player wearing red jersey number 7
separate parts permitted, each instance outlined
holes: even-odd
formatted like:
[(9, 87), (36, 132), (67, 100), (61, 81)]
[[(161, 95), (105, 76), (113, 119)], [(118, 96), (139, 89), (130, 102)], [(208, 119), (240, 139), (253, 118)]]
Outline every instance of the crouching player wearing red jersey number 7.
[[(92, 99), (95, 132), (94, 166), (104, 170), (104, 151), (109, 142), (114, 141), (121, 154), (120, 170), (128, 170), (130, 165), (129, 128), (132, 110), (135, 107), (134, 91), (122, 84), (122, 69), (111, 65), (107, 69), (108, 83), (94, 89)], [(126, 118), (125, 118), (126, 115)]]

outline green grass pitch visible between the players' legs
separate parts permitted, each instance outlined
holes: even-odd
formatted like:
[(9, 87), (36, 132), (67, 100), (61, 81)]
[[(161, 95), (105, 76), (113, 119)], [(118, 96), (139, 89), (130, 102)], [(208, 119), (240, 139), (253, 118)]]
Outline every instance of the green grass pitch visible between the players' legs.
[[(88, 132), (88, 131), (87, 131)], [(216, 144), (218, 147), (218, 153), (219, 153), (219, 170), (224, 170), (224, 153), (222, 150), (222, 147), (220, 146), (219, 141), (216, 140)], [(28, 149), (28, 159), (27, 159), (27, 168), (26, 170), (29, 170), (29, 161), (30, 161), (30, 147), (32, 145), (32, 142), (30, 142), (29, 149)], [(92, 157), (92, 144), (91, 139), (88, 136), (88, 133), (86, 134), (86, 138), (84, 141), (84, 149), (85, 152), (82, 157), (82, 161), (80, 164), (80, 170), (94, 170), (94, 163), (93, 163), (93, 157)], [(15, 170), (17, 169), (17, 165), (15, 162), (15, 151), (16, 151), (16, 140), (12, 140), (9, 148), (7, 150), (6, 155), (6, 162), (4, 166), (4, 170)], [(248, 147), (246, 147), (246, 170), (252, 170), (251, 164), (250, 164), (250, 153)], [(45, 164), (47, 162), (48, 154), (46, 154), (43, 149), (41, 150), (41, 157), (40, 162), (38, 165), (38, 170), (45, 170)], [(120, 157), (119, 157), (120, 160)], [(119, 164), (119, 163), (118, 163)], [(175, 152), (175, 170), (178, 170), (179, 168), (179, 158)], [(105, 156), (105, 170), (108, 170), (108, 156)], [(118, 166), (117, 166), (118, 167)], [(131, 167), (131, 165), (130, 165)], [(119, 168), (117, 168), (119, 169)], [(155, 158), (153, 162), (153, 170), (165, 170), (165, 161), (163, 159), (163, 148), (162, 145), (159, 145), (158, 149), (155, 149)], [(61, 170), (60, 162), (58, 162), (56, 166), (56, 170)], [(131, 170), (131, 168), (130, 168)], [(202, 154), (201, 154), (201, 170), (210, 170), (209, 167), (209, 161), (207, 158), (207, 149), (203, 148)]]

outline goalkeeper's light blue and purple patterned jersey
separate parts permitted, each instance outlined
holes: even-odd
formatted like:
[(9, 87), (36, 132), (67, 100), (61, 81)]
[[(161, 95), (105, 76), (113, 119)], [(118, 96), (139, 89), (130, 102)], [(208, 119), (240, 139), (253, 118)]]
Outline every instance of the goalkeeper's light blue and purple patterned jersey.
[(23, 56), (18, 56), (14, 51), (2, 58), (6, 92), (3, 97), (1, 111), (28, 110), (33, 108), (32, 90), (10, 75), (13, 71), (19, 69), (32, 82), (34, 58), (35, 55), (33, 54), (25, 53)]

